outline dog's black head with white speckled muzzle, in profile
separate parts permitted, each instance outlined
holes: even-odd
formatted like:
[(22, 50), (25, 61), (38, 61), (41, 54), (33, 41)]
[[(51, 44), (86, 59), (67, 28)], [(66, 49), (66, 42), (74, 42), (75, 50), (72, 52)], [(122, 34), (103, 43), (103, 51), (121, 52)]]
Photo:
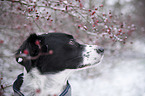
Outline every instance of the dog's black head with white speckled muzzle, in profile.
[[(27, 52), (24, 52), (26, 51)], [(63, 33), (31, 34), (16, 53), (16, 61), (27, 72), (37, 68), (41, 73), (78, 69), (100, 62), (104, 49), (81, 45), (72, 35)]]

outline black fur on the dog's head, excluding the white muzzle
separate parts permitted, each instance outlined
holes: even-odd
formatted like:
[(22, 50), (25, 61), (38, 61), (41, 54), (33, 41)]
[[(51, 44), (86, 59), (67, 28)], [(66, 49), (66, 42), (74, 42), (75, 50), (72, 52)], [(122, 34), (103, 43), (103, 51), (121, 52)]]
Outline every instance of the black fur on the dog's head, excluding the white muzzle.
[[(41, 50), (35, 44), (36, 40), (40, 42)], [(69, 43), (71, 41), (71, 44)], [(84, 45), (77, 43), (71, 35), (63, 33), (49, 33), (36, 35), (31, 34), (27, 40), (18, 49), (16, 56), (23, 53), (24, 50), (29, 51), (29, 56), (35, 57), (40, 52), (48, 53), (53, 50), (53, 54), (40, 55), (36, 59), (23, 58), (22, 62), (18, 62), (25, 66), (27, 72), (36, 67), (44, 74), (48, 72), (59, 72), (64, 69), (76, 69), (82, 62), (82, 53)]]

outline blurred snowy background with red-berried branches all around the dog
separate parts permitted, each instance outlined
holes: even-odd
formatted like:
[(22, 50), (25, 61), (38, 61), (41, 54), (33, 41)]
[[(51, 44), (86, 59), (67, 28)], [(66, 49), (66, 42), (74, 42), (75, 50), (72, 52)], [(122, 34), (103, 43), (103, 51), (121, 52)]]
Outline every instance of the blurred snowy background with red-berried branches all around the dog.
[(63, 32), (105, 48), (102, 62), (69, 78), (72, 96), (145, 96), (144, 0), (1, 0), (0, 96), (23, 67), (15, 52), (31, 33)]

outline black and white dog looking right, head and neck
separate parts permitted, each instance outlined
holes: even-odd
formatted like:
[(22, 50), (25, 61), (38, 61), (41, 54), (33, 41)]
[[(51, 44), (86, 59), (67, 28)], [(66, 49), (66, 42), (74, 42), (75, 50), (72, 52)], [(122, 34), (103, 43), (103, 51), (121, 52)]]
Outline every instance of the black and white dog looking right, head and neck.
[(103, 53), (103, 48), (81, 45), (72, 35), (31, 34), (16, 53), (16, 61), (25, 71), (23, 82), (14, 87), (24, 94), (20, 96), (70, 96), (64, 92), (70, 73), (98, 64)]

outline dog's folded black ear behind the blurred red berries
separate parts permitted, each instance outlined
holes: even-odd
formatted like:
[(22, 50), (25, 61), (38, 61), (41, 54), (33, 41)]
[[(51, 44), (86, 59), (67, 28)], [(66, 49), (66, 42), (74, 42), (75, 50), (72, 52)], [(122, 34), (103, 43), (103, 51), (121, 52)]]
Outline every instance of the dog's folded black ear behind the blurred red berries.
[(29, 59), (28, 57), (37, 56), (39, 54), (39, 46), (41, 43), (41, 38), (37, 36), (36, 34), (31, 34), (27, 40), (23, 42), (23, 44), (20, 46), (18, 51), (16, 52), (16, 61), (23, 65), (27, 72), (31, 70), (34, 64), (34, 60)]

